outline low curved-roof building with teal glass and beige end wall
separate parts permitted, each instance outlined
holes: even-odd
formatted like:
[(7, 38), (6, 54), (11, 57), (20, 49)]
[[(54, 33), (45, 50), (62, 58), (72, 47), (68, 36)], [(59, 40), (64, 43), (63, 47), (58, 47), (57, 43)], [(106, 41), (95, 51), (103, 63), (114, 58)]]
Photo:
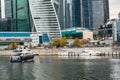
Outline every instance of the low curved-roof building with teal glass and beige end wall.
[[(89, 35), (88, 35), (89, 34)], [(79, 38), (79, 39), (91, 39), (93, 40), (93, 32), (85, 28), (69, 28), (62, 30), (62, 36), (66, 38)]]

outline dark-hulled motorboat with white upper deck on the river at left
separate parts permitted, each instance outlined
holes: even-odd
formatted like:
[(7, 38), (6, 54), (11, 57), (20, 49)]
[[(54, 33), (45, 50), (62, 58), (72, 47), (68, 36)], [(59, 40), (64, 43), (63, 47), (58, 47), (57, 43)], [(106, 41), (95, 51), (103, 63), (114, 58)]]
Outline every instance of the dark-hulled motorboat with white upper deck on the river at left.
[(21, 49), (22, 51), (18, 51), (19, 54), (14, 53), (13, 56), (10, 57), (10, 62), (23, 62), (34, 59), (34, 54), (30, 49)]

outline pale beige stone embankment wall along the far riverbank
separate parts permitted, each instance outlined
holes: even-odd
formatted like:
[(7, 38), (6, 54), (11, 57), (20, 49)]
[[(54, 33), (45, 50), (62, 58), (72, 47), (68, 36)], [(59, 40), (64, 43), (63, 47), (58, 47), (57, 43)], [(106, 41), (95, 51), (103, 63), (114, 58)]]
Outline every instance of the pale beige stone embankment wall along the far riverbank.
[[(111, 48), (111, 47), (85, 47), (85, 48), (42, 48), (42, 49), (32, 49), (34, 53), (39, 54), (39, 56), (53, 56), (58, 55), (58, 52), (73, 52), (73, 53), (81, 53), (84, 49), (100, 51), (101, 54), (119, 54), (119, 48)], [(13, 50), (1, 50), (1, 56), (11, 56), (13, 55)]]

